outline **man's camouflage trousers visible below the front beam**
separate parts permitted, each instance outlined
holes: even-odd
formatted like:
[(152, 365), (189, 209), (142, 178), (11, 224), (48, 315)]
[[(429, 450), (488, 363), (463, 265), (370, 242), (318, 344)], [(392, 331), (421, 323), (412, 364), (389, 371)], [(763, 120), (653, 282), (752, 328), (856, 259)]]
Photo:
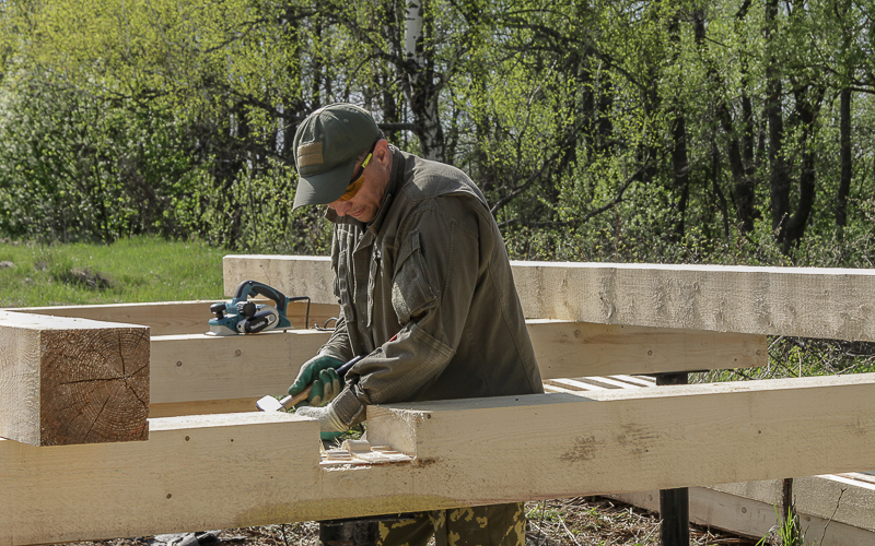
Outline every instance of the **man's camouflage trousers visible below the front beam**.
[(522, 502), (419, 512), (412, 520), (381, 522), (380, 546), (525, 546)]

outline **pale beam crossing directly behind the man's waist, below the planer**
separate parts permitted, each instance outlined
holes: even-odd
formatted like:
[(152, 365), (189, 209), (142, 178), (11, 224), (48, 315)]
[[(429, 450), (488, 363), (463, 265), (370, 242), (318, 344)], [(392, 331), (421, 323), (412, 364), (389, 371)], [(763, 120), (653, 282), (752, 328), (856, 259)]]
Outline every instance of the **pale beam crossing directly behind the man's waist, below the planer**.
[[(528, 321), (528, 331), (544, 379), (766, 364), (761, 335), (544, 320)], [(234, 412), (265, 394), (283, 394), (328, 336), (315, 330), (154, 336), (150, 415)]]

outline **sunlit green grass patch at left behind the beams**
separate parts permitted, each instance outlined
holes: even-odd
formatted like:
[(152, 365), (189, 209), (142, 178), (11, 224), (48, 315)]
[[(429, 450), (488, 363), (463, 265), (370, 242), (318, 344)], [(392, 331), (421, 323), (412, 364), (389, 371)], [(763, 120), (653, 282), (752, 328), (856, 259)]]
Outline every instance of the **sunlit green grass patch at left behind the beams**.
[(113, 245), (0, 242), (0, 308), (222, 298), (225, 251), (137, 237)]

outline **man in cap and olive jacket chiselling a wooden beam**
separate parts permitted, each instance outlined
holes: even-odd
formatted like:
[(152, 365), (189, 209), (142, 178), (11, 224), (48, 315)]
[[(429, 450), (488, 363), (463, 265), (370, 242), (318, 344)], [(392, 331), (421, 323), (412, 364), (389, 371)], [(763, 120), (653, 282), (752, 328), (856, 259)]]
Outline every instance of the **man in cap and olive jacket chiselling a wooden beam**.
[[(504, 242), (464, 173), (399, 151), (349, 104), (311, 114), (294, 149), (294, 206), (327, 204), (335, 224), (341, 306), (289, 388), (313, 383), (300, 415), (331, 434), (361, 423), (370, 404), (544, 392)], [(354, 355), (366, 356), (340, 390), (335, 369)], [(438, 544), (522, 545), (525, 515), (522, 503), (435, 511), (381, 534), (381, 544), (434, 534)]]

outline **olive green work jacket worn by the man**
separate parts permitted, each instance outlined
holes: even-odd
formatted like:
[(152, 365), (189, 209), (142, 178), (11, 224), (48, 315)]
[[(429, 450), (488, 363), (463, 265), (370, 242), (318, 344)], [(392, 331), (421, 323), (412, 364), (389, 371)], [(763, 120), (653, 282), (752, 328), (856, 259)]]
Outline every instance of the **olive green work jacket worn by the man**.
[(368, 354), (347, 372), (338, 417), (361, 422), (369, 404), (544, 392), (486, 198), (460, 170), (392, 151), (371, 223), (327, 213), (341, 314), (319, 353)]

